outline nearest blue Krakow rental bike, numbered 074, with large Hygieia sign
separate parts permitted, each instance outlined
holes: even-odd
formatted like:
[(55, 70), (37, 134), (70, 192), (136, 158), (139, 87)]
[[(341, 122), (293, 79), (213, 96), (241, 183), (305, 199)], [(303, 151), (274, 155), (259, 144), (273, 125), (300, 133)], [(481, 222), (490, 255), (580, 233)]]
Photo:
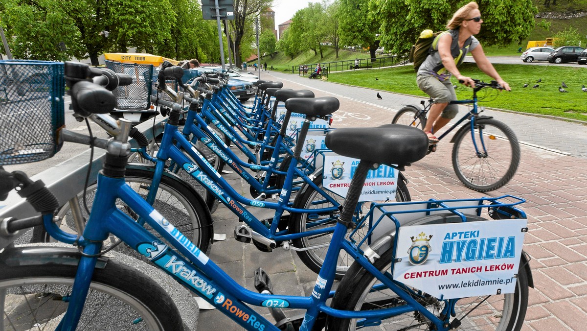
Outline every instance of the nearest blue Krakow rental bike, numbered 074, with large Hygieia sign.
[[(78, 67), (73, 70), (70, 66)], [(54, 75), (59, 76), (59, 72)], [(112, 110), (116, 103), (110, 92), (90, 81), (95, 75), (92, 81), (99, 81), (99, 73), (66, 63), (66, 75), (78, 115), (92, 118), (92, 113)], [(287, 103), (292, 102), (312, 103), (296, 98)], [(11, 186), (18, 187), (19, 194), (43, 213), (42, 218), (2, 220), (2, 236), (14, 235), (41, 219), (52, 236), (77, 246), (9, 246), (0, 253), (4, 329), (25, 325), (29, 329), (59, 330), (182, 330), (177, 308), (167, 293), (147, 275), (104, 255), (102, 244), (109, 233), (248, 330), (521, 329), (528, 286), (532, 285), (528, 259), (521, 249), (527, 230), (525, 214), (515, 207), (524, 200), (502, 196), (376, 203), (361, 222), (353, 221), (355, 205), (371, 169), (380, 164), (403, 168), (426, 155), (429, 144), (422, 131), (387, 125), (328, 133), (326, 145), (332, 151), (361, 161), (312, 294), (300, 297), (273, 294), (271, 281), (260, 268), (255, 272), (258, 293), (245, 289), (137, 196), (124, 183), (130, 122), (121, 119), (119, 124), (119, 133), (107, 142), (107, 156), (99, 175), (95, 205), (102, 208), (92, 210), (83, 235), (64, 233), (55, 226), (52, 211), (59, 203), (42, 183), (32, 183), (18, 172), (0, 173), (2, 182), (10, 184), (2, 188), (0, 196)], [(49, 125), (48, 131), (54, 129)], [(48, 147), (53, 149), (52, 145)], [(8, 156), (2, 164), (35, 153), (21, 147), (19, 153), (14, 151), (14, 146), (0, 145), (0, 155)], [(124, 197), (165, 241), (118, 210), (114, 203), (117, 196)], [(485, 209), (494, 220), (480, 217)], [(370, 228), (368, 236), (360, 242), (346, 239), (349, 229), (355, 232), (366, 226)], [(379, 233), (381, 226), (384, 228)], [(430, 251), (431, 246), (434, 249)], [(352, 254), (356, 262), (334, 289), (339, 250)], [(435, 282), (437, 279), (442, 280)], [(121, 309), (115, 313), (109, 309), (103, 316), (103, 307), (115, 304)], [(267, 307), (275, 323), (249, 305)], [(302, 309), (305, 313), (286, 317), (284, 309)]]

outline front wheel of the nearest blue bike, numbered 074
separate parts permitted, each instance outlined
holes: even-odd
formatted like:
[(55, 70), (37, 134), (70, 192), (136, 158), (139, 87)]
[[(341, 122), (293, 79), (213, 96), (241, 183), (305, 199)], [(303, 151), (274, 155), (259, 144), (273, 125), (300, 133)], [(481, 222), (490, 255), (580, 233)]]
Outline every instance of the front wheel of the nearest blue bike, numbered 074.
[[(55, 329), (68, 305), (59, 297), (71, 292), (76, 270), (77, 265), (69, 264), (39, 268), (0, 262), (0, 296), (4, 299), (2, 315), (6, 330)], [(124, 319), (117, 319), (119, 316)], [(183, 330), (180, 313), (171, 297), (149, 277), (122, 263), (109, 260), (103, 269), (96, 268), (77, 330), (145, 327)]]

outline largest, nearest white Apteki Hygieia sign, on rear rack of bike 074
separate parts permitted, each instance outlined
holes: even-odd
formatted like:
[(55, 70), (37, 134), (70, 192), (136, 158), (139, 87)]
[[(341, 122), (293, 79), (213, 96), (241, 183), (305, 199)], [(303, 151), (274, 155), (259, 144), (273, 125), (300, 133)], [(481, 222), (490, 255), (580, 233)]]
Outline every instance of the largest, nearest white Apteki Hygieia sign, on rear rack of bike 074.
[(393, 278), (438, 299), (513, 293), (526, 219), (402, 226)]

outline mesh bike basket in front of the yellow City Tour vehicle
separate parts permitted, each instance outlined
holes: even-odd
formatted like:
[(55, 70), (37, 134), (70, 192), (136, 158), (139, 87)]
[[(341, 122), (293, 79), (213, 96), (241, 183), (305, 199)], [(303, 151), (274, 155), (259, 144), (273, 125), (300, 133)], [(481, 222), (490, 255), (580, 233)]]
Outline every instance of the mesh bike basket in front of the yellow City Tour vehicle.
[(112, 93), (116, 96), (116, 108), (124, 111), (146, 111), (151, 106), (151, 78), (153, 65), (106, 62), (106, 68), (116, 73), (126, 73), (133, 83), (117, 87)]

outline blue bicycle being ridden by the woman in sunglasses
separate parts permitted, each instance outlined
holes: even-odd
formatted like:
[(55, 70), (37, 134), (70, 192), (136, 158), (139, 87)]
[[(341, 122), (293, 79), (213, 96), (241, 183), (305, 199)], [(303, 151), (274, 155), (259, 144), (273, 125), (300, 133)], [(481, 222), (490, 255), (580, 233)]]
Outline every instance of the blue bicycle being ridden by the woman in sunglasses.
[[(453, 169), (458, 179), (467, 188), (478, 192), (488, 192), (501, 188), (514, 176), (519, 165), (519, 142), (514, 131), (491, 116), (481, 115), (483, 108), (478, 106), (477, 93), (484, 88), (501, 90), (497, 82), (481, 82), (477, 79), (473, 88), (473, 98), (451, 101), (451, 105), (472, 103), (473, 108), (463, 118), (454, 123), (446, 132), (438, 136), (442, 140), (451, 131), (465, 122), (454, 134)], [(424, 129), (426, 113), (434, 101), (420, 102), (424, 108), (407, 105), (397, 112), (392, 123), (410, 125)], [(436, 145), (431, 146), (436, 148)]]

